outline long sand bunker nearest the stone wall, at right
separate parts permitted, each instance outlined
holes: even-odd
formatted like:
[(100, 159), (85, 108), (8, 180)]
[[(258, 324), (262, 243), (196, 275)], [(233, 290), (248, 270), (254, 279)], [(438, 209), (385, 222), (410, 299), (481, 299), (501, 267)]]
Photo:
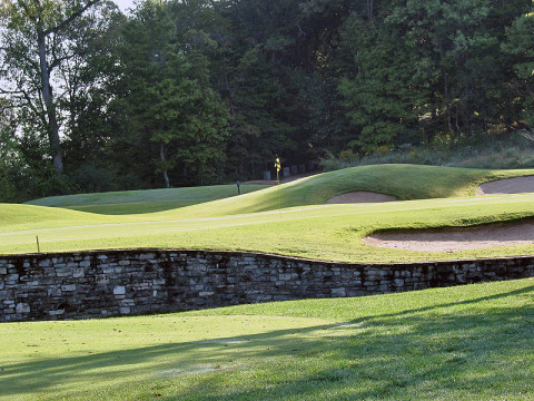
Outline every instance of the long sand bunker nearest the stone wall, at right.
[(534, 222), (491, 224), (475, 228), (442, 232), (372, 234), (363, 238), (367, 245), (407, 251), (454, 252), (504, 245), (534, 243)]

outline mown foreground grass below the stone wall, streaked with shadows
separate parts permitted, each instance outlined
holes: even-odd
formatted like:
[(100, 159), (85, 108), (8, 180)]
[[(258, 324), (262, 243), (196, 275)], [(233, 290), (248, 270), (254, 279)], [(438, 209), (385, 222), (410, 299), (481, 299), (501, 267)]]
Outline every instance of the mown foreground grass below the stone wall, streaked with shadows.
[(0, 324), (0, 400), (532, 400), (534, 280)]

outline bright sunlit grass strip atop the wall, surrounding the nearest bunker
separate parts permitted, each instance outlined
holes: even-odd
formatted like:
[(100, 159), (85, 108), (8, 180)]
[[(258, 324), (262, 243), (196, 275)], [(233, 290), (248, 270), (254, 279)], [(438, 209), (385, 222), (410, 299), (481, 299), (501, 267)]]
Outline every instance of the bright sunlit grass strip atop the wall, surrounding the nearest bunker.
[[(523, 255), (532, 254), (534, 247), (522, 245), (454, 253), (415, 252), (372, 247), (360, 238), (382, 229), (473, 226), (534, 217), (533, 202), (534, 194), (525, 194), (386, 204), (322, 205), (226, 217), (137, 219), (13, 231), (0, 234), (0, 252), (34, 252), (36, 235), (39, 235), (41, 251), (44, 252), (135, 247), (206, 248), (256, 251), (345, 262)], [(147, 217), (155, 218), (155, 215)]]

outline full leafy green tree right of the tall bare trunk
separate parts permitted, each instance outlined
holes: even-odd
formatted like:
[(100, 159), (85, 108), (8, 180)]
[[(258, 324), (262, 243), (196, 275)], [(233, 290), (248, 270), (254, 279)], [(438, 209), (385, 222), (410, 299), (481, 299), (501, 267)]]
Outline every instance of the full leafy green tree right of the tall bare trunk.
[[(209, 38), (187, 31), (177, 41), (168, 11), (147, 2), (125, 26), (123, 101), (156, 173), (180, 184), (212, 182), (225, 162), (227, 111), (210, 87)], [(186, 173), (187, 172), (187, 173)], [(181, 176), (181, 178), (178, 178)]]

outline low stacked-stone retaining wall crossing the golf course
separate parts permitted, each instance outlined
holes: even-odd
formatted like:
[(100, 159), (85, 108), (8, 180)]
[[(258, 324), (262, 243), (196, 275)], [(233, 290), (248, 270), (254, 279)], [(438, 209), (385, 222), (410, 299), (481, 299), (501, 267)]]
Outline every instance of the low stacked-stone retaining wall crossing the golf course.
[(353, 264), (207, 251), (0, 256), (0, 322), (383, 294), (534, 276), (534, 256)]

